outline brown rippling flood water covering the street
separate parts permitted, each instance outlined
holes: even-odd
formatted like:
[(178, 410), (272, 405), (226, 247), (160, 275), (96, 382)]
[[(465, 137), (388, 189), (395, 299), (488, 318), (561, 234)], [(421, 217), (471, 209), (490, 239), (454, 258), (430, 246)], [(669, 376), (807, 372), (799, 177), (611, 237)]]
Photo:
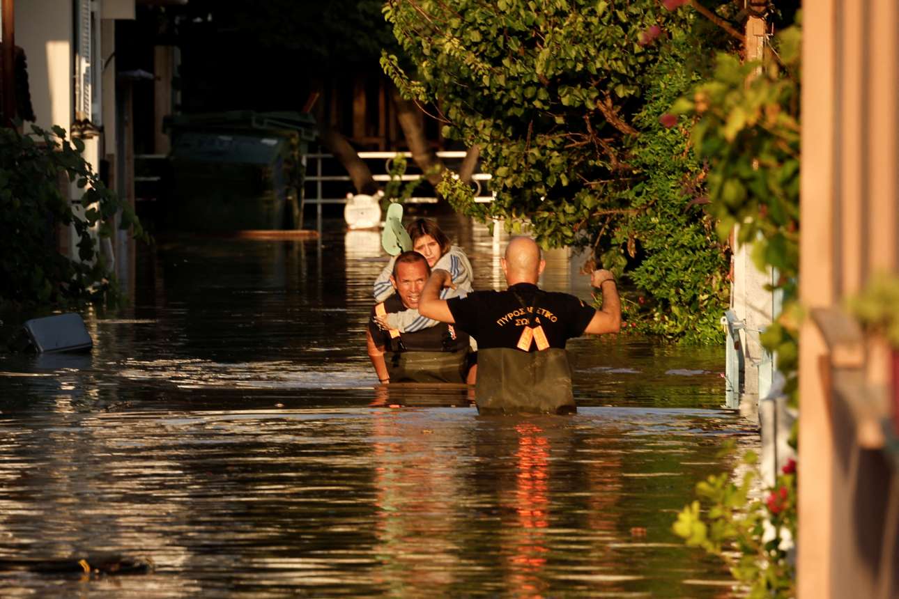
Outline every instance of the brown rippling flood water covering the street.
[[(443, 223), (476, 287), (504, 240)], [(87, 355), (0, 353), (0, 563), (98, 553), (133, 576), (0, 569), (0, 595), (727, 597), (671, 532), (754, 430), (721, 348), (575, 339), (574, 416), (481, 417), (464, 388), (377, 388), (378, 233), (174, 237)], [(543, 286), (586, 297), (563, 260)], [(13, 332), (7, 322), (4, 338)]]

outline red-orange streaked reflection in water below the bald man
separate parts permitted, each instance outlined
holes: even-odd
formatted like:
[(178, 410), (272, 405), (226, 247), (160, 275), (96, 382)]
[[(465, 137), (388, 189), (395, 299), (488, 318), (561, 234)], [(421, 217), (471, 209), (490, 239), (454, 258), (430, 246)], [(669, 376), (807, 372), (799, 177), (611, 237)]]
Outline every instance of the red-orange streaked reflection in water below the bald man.
[[(567, 418), (477, 418), (471, 435), (475, 459), (463, 463), (470, 469), (468, 484), (478, 498), (475, 515), (480, 517), (473, 520), (484, 530), (469, 535), (477, 541), (461, 550), (496, 560), (491, 567), (505, 588), (526, 589), (528, 596), (553, 596), (551, 563), (565, 555), (565, 549), (557, 546), (563, 537), (553, 528), (583, 525), (576, 522), (583, 518), (582, 499), (571, 491), (590, 490), (584, 486), (585, 469), (574, 449), (575, 436)], [(569, 520), (572, 517), (575, 522)]]

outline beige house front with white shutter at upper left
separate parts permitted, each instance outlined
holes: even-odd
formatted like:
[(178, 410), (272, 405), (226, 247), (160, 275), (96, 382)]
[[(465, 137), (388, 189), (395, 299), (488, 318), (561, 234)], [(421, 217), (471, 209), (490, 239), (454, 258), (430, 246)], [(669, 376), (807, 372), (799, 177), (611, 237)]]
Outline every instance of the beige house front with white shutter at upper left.
[[(117, 22), (135, 18), (136, 0), (28, 0), (16, 2), (13, 14), (15, 45), (28, 65), (34, 117), (23, 123), (24, 130), (58, 126), (67, 137), (80, 139), (85, 160), (133, 206), (129, 90), (117, 74), (115, 28)], [(74, 183), (61, 185), (69, 198), (80, 197)], [(72, 230), (60, 232), (59, 250), (67, 256), (77, 257), (76, 242)], [(127, 283), (134, 259), (129, 232), (117, 231), (101, 251)]]

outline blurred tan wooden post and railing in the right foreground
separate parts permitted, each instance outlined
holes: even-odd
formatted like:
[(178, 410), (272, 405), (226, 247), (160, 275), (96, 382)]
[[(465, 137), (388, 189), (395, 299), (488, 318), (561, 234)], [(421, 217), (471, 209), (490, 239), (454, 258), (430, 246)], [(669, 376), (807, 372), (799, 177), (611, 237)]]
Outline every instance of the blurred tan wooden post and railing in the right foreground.
[(899, 5), (819, 0), (803, 31), (797, 595), (886, 599), (899, 596), (895, 383), (885, 341), (843, 305), (899, 266)]

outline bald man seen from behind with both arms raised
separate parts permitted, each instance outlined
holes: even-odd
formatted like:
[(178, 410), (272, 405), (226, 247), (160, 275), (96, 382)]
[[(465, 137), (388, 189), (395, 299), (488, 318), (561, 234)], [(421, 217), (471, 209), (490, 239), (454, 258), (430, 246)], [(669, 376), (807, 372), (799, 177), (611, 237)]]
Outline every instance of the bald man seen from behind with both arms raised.
[(618, 332), (621, 308), (615, 279), (594, 270), (592, 286), (602, 294), (595, 310), (574, 295), (541, 291), (537, 282), (546, 267), (539, 246), (517, 237), (501, 261), (509, 288), (441, 299), (452, 286), (449, 272), (434, 269), (418, 310), (424, 316), (457, 325), (478, 346), (478, 410), (565, 413), (575, 410), (571, 366), (565, 341), (584, 333)]

